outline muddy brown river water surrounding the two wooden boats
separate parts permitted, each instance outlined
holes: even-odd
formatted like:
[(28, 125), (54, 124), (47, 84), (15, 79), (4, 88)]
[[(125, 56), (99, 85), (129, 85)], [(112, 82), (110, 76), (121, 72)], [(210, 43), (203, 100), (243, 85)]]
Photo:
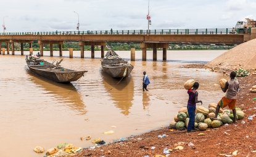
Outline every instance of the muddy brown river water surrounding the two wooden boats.
[[(64, 52), (62, 66), (88, 71), (79, 82), (68, 85), (31, 74), (20, 52), (14, 56), (0, 55), (0, 156), (44, 156), (45, 153), (36, 154), (33, 148), (39, 145), (47, 150), (63, 142), (90, 147), (91, 140), (81, 141), (81, 136), (112, 142), (168, 126), (188, 101), (183, 88), (186, 80), (193, 78), (200, 83), (199, 99), (204, 106), (223, 96), (219, 86), (214, 85), (223, 78), (221, 74), (180, 67), (205, 63), (223, 52), (168, 51), (167, 62), (151, 61), (151, 51), (147, 53), (149, 60), (141, 61), (141, 52), (136, 52), (130, 77), (120, 83), (102, 72), (101, 52), (96, 52), (96, 59), (90, 58), (90, 52), (84, 59), (78, 58), (80, 52), (74, 52), (72, 59)], [(130, 52), (117, 53), (130, 58)], [(43, 59), (59, 60), (57, 54), (50, 57), (45, 52)], [(162, 58), (161, 51), (157, 55)], [(143, 71), (151, 81), (147, 92), (142, 92)], [(114, 134), (103, 134), (109, 130)]]

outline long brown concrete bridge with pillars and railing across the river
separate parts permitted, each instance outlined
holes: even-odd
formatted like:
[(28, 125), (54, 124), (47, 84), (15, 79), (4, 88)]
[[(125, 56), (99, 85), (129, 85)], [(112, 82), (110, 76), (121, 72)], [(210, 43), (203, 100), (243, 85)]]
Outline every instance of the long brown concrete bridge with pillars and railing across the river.
[[(104, 57), (106, 42), (135, 42), (142, 49), (142, 60), (146, 61), (146, 48), (153, 48), (153, 60), (157, 60), (157, 48), (163, 48), (163, 61), (167, 59), (168, 44), (232, 44), (237, 45), (256, 38), (256, 28), (249, 30), (248, 34), (233, 34), (232, 29), (160, 29), (160, 30), (122, 30), (122, 31), (52, 31), (52, 32), (25, 32), (0, 33), (0, 54), (5, 55), (1, 43), (6, 42), (7, 54), (11, 45), (14, 55), (14, 43), (30, 44), (30, 53), (33, 53), (32, 44), (38, 42), (41, 56), (44, 55), (44, 44), (50, 45), (50, 56), (53, 56), (53, 44), (59, 45), (59, 56), (62, 56), (64, 42), (79, 42), (81, 58), (84, 58), (84, 46), (91, 45), (91, 58), (94, 58), (94, 46), (101, 46), (101, 57)], [(70, 50), (70, 58), (73, 52)], [(135, 51), (131, 51), (131, 60), (135, 59)]]

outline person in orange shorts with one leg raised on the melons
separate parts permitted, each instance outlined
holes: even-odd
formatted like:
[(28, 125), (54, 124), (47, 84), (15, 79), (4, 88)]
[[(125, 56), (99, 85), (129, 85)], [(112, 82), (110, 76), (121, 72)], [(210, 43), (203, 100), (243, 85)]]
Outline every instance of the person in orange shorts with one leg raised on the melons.
[(224, 93), (226, 92), (226, 95), (223, 98), (221, 98), (221, 100), (218, 102), (218, 105), (216, 107), (215, 118), (213, 118), (213, 120), (217, 120), (220, 107), (224, 108), (228, 105), (229, 109), (232, 110), (234, 115), (233, 123), (236, 123), (236, 98), (239, 89), (239, 82), (237, 79), (235, 79), (236, 72), (231, 72), (229, 76), (230, 80), (226, 82), (225, 88), (221, 88), (221, 90)]

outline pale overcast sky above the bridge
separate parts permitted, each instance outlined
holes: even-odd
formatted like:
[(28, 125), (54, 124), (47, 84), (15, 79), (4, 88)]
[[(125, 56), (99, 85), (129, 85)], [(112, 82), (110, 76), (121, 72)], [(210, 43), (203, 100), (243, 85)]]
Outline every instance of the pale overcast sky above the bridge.
[[(80, 31), (147, 29), (148, 0), (0, 2), (6, 32), (76, 31), (78, 15)], [(256, 0), (150, 0), (149, 12), (150, 29), (232, 28), (238, 20), (256, 20)]]

